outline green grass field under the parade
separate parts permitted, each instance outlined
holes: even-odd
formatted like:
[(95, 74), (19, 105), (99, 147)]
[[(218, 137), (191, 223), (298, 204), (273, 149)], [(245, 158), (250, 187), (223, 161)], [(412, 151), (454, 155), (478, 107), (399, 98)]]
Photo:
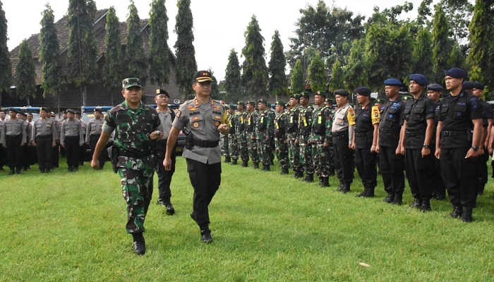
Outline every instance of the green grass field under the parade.
[[(185, 160), (172, 181), (174, 216), (147, 214), (147, 253), (125, 233), (118, 176), (107, 165), (20, 176), (0, 172), (0, 281), (494, 281), (494, 194), (490, 179), (474, 222), (451, 219), (449, 202), (433, 212), (344, 195), (290, 176), (222, 164), (210, 205), (211, 245), (190, 219), (193, 190)], [(157, 178), (155, 176), (157, 181)], [(156, 182), (155, 181), (155, 182)], [(156, 185), (155, 185), (156, 186)], [(363, 265), (362, 265), (363, 264)]]

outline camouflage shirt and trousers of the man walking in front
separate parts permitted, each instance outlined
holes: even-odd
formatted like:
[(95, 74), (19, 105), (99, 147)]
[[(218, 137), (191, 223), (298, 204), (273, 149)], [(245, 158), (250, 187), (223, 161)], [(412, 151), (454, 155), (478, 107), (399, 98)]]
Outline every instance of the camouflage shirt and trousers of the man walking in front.
[(127, 102), (115, 106), (104, 118), (103, 131), (115, 130), (114, 145), (119, 148), (116, 167), (127, 203), (127, 233), (145, 231), (144, 221), (152, 197), (155, 174), (155, 141), (150, 133), (162, 130), (156, 109), (140, 102), (131, 109)]

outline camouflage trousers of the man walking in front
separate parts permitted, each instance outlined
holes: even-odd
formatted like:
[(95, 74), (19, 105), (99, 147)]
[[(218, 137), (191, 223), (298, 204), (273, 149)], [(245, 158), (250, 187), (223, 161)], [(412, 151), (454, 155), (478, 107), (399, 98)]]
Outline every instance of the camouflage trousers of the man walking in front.
[(154, 168), (119, 168), (123, 199), (127, 203), (127, 233), (144, 232), (144, 220), (152, 197)]

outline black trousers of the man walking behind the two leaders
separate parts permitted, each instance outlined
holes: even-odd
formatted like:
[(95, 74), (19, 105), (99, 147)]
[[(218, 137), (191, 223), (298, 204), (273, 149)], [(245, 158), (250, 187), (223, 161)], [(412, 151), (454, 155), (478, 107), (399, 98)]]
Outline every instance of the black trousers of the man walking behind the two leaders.
[(164, 155), (167, 151), (167, 140), (159, 140), (156, 143), (156, 174), (158, 176), (158, 192), (159, 199), (164, 200), (165, 202), (169, 202), (171, 198), (171, 177), (175, 172), (175, 163), (176, 163), (176, 143), (171, 152), (171, 169), (169, 171), (164, 169), (163, 160)]

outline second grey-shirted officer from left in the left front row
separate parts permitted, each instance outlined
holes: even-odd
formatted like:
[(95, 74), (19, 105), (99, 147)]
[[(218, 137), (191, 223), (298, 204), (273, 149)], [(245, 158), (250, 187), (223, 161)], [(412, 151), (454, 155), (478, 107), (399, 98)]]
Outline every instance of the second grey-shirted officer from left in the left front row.
[(49, 173), (52, 168), (52, 149), (56, 145), (56, 125), (49, 118), (49, 109), (40, 108), (40, 118), (32, 125), (32, 144), (36, 148), (40, 173)]

